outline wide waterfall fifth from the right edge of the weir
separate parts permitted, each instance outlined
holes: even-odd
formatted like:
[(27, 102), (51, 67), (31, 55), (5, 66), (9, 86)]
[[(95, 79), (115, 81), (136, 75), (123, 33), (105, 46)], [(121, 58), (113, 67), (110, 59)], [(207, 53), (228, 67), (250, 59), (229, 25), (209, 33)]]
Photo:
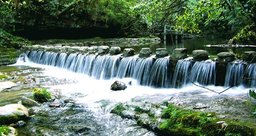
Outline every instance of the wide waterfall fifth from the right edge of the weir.
[(152, 87), (169, 88), (172, 77), (170, 59), (160, 58), (152, 66), (147, 85)]

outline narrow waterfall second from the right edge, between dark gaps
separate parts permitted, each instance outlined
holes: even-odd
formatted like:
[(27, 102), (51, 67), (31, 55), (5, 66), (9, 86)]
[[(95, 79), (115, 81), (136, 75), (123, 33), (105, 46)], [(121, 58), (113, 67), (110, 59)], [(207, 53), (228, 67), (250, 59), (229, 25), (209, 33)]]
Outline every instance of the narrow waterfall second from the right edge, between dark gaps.
[(244, 75), (243, 63), (241, 62), (228, 63), (226, 78), (225, 78), (225, 87), (236, 85), (238, 82), (243, 80), (242, 79), (243, 75)]

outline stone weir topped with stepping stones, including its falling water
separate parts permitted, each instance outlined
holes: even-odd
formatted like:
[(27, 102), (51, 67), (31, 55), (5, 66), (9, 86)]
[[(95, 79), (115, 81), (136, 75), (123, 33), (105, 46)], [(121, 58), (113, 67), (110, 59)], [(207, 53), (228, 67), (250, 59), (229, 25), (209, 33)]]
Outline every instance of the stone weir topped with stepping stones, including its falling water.
[[(25, 61), (51, 65), (82, 73), (94, 79), (130, 77), (138, 85), (158, 88), (181, 88), (191, 82), (199, 85), (233, 86), (245, 76), (256, 78), (256, 52), (244, 52), (243, 60), (235, 60), (228, 52), (209, 59), (205, 50), (195, 50), (188, 57), (186, 48), (174, 49), (169, 55), (164, 48), (152, 55), (149, 48), (142, 48), (138, 55), (134, 49), (108, 46), (24, 46)], [(254, 59), (254, 60), (252, 60)], [(250, 62), (249, 62), (250, 61)], [(248, 80), (240, 85), (254, 87), (256, 81)]]

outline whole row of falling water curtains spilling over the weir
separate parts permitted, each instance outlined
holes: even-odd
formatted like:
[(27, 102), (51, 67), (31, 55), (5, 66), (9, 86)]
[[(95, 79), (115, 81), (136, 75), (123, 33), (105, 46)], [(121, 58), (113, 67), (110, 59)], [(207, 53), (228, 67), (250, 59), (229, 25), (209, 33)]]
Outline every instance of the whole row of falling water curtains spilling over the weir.
[[(191, 58), (178, 60), (174, 73), (172, 61), (168, 57), (155, 59), (155, 56), (140, 58), (138, 55), (122, 58), (120, 55), (66, 54), (43, 51), (26, 51), (25, 61), (50, 65), (74, 73), (82, 73), (94, 79), (132, 78), (137, 85), (156, 88), (182, 88), (189, 79), (200, 85), (215, 85), (216, 63), (212, 60), (196, 61)], [(230, 87), (241, 81), (245, 71), (244, 64), (228, 64), (225, 86)], [(255, 63), (248, 66), (247, 76), (256, 77)], [(173, 74), (173, 77), (172, 77)], [(255, 87), (256, 81), (248, 81), (249, 87)]]

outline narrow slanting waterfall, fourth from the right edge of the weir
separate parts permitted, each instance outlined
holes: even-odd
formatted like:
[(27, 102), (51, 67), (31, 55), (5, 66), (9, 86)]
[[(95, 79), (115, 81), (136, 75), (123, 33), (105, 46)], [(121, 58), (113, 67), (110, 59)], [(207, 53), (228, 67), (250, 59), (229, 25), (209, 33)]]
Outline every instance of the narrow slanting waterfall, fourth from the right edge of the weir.
[(192, 61), (188, 59), (178, 60), (172, 80), (172, 88), (182, 88), (189, 82), (188, 76), (190, 74), (192, 66)]

